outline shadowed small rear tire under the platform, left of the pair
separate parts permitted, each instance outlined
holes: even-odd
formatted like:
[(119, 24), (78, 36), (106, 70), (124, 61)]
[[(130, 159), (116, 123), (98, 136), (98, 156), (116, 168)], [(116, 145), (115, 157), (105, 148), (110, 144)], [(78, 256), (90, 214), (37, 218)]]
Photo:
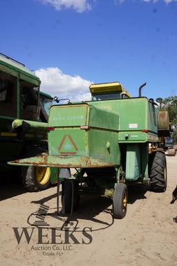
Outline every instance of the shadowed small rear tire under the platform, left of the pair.
[[(73, 210), (75, 211), (80, 203), (80, 194), (77, 189), (77, 182), (74, 182), (74, 202)], [(71, 180), (64, 180), (62, 182), (62, 213), (71, 213), (71, 204), (72, 204), (72, 184)]]

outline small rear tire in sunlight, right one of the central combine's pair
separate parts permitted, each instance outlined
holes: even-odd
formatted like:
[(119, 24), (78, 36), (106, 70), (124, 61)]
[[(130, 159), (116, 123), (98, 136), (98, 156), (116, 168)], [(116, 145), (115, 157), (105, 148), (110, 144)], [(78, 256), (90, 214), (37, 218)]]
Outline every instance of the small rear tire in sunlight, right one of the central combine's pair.
[[(126, 198), (126, 206), (124, 199)], [(117, 184), (113, 193), (113, 218), (122, 219), (127, 213), (127, 185), (124, 183)]]

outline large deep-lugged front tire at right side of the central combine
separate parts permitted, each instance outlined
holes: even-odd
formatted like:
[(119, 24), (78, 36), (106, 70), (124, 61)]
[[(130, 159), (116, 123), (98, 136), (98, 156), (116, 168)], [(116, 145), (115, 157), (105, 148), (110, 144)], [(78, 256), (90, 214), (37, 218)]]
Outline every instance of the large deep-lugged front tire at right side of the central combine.
[(165, 192), (167, 189), (167, 162), (165, 154), (156, 151), (150, 171), (151, 190), (154, 192)]

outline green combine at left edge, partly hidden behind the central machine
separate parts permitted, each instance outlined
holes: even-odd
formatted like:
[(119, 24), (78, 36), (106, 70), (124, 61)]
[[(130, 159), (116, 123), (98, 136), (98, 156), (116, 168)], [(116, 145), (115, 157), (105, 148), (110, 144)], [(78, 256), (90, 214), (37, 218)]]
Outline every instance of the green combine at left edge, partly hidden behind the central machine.
[(50, 167), (17, 169), (7, 164), (48, 151), (46, 126), (53, 97), (39, 91), (40, 83), (24, 64), (0, 54), (0, 176), (3, 182), (20, 176), (28, 191), (47, 189), (58, 175)]

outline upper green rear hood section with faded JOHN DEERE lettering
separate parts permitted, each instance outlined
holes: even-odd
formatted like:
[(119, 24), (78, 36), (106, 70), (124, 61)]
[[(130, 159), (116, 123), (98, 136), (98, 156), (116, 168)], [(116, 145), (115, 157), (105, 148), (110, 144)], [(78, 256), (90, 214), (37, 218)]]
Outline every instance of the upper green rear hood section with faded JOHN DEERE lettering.
[(118, 113), (102, 110), (92, 104), (52, 106), (48, 126), (90, 126), (118, 131)]

